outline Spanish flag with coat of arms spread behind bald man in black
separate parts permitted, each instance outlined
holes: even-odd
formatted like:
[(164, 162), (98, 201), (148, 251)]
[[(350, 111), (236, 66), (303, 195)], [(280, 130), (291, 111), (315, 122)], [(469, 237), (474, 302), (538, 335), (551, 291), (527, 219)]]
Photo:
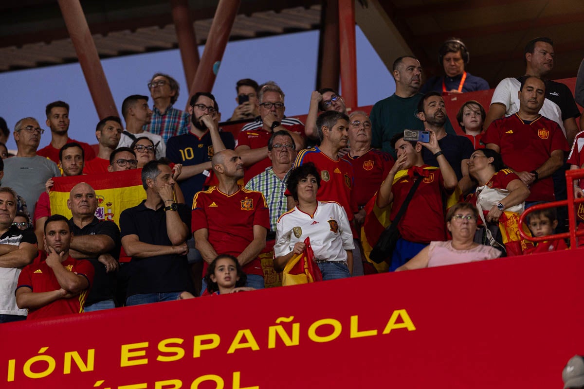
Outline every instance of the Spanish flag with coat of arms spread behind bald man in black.
[(146, 198), (141, 173), (142, 169), (133, 169), (88, 176), (55, 177), (53, 188), (48, 194), (51, 213), (71, 218), (71, 210), (67, 207), (69, 192), (75, 185), (87, 183), (95, 190), (98, 198), (95, 216), (99, 220), (112, 220), (119, 226), (121, 211), (140, 204)]

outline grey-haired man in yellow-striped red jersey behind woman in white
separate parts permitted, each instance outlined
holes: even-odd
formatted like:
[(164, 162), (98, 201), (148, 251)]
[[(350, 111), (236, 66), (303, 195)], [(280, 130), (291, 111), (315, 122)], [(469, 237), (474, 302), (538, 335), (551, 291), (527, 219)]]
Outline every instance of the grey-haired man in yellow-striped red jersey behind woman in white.
[[(326, 111), (318, 117), (317, 129), (321, 145), (301, 150), (293, 167), (307, 162), (315, 164), (321, 173), (321, 187), (318, 188), (317, 200), (338, 202), (347, 213), (353, 238), (357, 238), (353, 219), (359, 210), (352, 194), (353, 166), (347, 160), (339, 158), (339, 150), (345, 148), (349, 141), (349, 117), (337, 111)], [(288, 208), (291, 208), (290, 205), (289, 203)], [(350, 257), (347, 262), (352, 264), (353, 258)], [(349, 270), (353, 273), (350, 265)]]

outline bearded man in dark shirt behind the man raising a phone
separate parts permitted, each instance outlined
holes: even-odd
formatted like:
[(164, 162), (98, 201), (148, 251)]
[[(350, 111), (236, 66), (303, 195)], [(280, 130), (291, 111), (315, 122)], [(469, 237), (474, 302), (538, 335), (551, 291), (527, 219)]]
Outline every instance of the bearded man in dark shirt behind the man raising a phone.
[(437, 157), (443, 153), (446, 160), (456, 173), (458, 185), (463, 192), (470, 190), (472, 183), (468, 177), (468, 159), (470, 159), (474, 148), (471, 141), (466, 136), (446, 134), (444, 123), (446, 123), (446, 108), (444, 99), (438, 92), (428, 92), (418, 103), (418, 117), (424, 123), (427, 131), (436, 134), (440, 152), (433, 155), (427, 148), (422, 148), (422, 159), (425, 164), (440, 167)]

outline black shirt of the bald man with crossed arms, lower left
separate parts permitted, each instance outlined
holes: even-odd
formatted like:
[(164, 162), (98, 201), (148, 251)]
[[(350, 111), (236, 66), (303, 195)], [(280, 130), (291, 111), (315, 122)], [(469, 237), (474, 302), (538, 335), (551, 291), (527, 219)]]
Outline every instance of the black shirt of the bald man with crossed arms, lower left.
[[(93, 216), (91, 223), (83, 228), (79, 228), (73, 222), (73, 219), (69, 219), (69, 227), (75, 239), (75, 236), (86, 236), (86, 235), (106, 235), (112, 238), (114, 241), (114, 248), (109, 251), (112, 257), (116, 260), (120, 256), (120, 229), (117, 227), (116, 223), (110, 220), (103, 220), (100, 222), (98, 218)], [(89, 290), (89, 295), (87, 296), (86, 306), (93, 303), (97, 303), (103, 300), (113, 300), (115, 296), (116, 289), (116, 273), (106, 272), (105, 265), (98, 261), (98, 258), (85, 258), (95, 268), (95, 276), (93, 278), (93, 285), (91, 290)]]

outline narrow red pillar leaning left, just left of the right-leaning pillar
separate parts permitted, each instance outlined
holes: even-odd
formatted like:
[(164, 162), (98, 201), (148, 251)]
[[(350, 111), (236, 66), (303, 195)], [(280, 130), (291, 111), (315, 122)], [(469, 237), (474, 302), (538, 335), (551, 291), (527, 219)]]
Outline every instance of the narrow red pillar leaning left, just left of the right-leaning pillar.
[(185, 69), (186, 85), (192, 85), (194, 74), (199, 66), (199, 50), (194, 35), (193, 18), (190, 15), (188, 0), (171, 0), (172, 20), (175, 23), (176, 37), (179, 42), (180, 58)]

